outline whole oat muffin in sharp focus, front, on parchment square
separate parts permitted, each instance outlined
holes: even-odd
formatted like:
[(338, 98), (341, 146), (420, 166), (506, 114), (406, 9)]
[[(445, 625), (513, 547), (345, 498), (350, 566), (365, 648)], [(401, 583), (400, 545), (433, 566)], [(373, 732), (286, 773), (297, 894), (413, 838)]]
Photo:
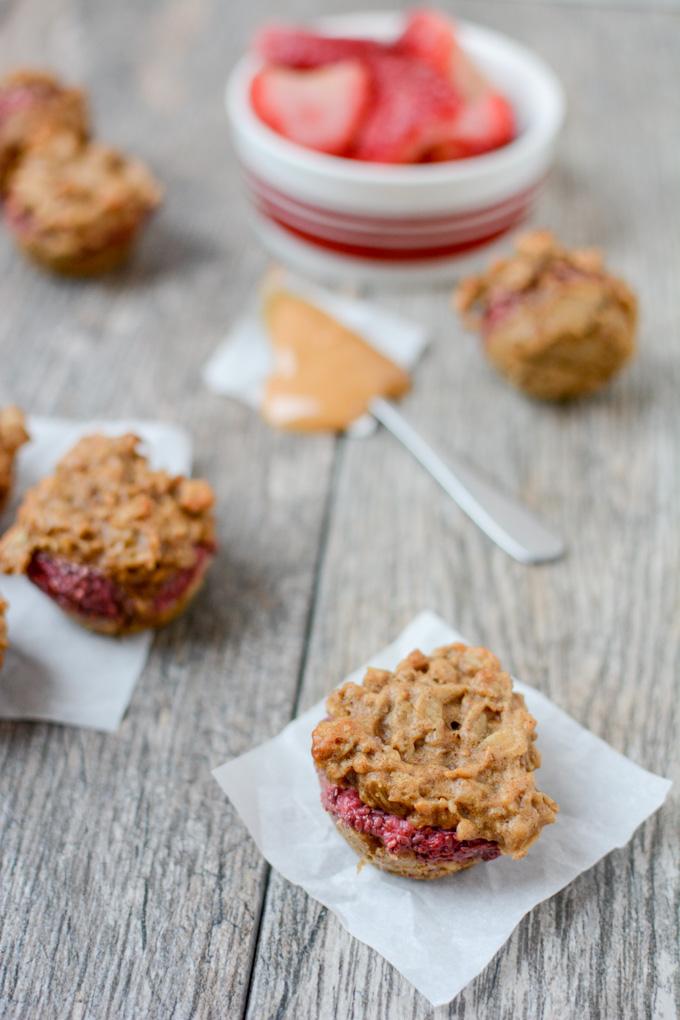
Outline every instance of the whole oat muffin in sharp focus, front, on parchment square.
[(440, 878), (524, 857), (558, 806), (536, 789), (535, 719), (484, 648), (412, 652), (327, 701), (312, 735), (321, 803), (362, 860)]

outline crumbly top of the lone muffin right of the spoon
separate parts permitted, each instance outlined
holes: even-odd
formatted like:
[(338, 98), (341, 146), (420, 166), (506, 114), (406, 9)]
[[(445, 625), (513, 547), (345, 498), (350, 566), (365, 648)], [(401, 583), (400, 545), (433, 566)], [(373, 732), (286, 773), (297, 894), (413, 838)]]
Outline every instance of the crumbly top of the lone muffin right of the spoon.
[(496, 259), (485, 272), (468, 276), (456, 290), (455, 304), (470, 328), (478, 329), (494, 302), (512, 296), (545, 297), (583, 280), (599, 282), (599, 291), (616, 297), (635, 316), (636, 301), (630, 288), (607, 272), (603, 254), (595, 248), (565, 248), (550, 231), (532, 231), (518, 238), (516, 252)]

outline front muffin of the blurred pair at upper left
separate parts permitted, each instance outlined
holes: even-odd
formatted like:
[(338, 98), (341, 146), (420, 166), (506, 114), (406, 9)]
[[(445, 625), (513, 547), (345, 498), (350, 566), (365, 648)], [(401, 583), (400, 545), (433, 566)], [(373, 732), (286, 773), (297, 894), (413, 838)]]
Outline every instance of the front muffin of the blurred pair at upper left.
[(60, 135), (34, 148), (12, 174), (5, 223), (39, 265), (93, 276), (125, 261), (161, 197), (139, 160)]

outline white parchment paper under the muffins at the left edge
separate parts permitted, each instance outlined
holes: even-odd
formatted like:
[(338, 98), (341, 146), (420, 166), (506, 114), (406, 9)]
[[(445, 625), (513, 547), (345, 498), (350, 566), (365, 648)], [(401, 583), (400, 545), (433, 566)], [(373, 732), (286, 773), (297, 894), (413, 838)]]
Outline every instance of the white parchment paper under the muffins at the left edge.
[[(155, 421), (67, 421), (31, 418), (31, 443), (19, 451), (7, 527), (23, 493), (54, 469), (83, 436), (133, 431), (144, 441), (154, 467), (173, 474), (191, 468), (191, 441), (184, 428)], [(9, 603), (9, 649), (0, 670), (0, 718), (41, 719), (112, 731), (119, 725), (144, 668), (151, 631), (129, 638), (91, 633), (68, 617), (25, 577), (0, 575)]]

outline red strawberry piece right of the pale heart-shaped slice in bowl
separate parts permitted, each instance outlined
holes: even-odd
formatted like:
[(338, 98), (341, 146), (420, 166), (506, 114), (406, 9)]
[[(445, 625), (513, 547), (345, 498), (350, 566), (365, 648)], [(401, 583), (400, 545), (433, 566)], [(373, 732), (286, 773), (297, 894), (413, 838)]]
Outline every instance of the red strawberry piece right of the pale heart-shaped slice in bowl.
[(366, 60), (373, 98), (353, 155), (380, 163), (413, 163), (436, 145), (459, 112), (459, 96), (420, 60), (380, 54)]

